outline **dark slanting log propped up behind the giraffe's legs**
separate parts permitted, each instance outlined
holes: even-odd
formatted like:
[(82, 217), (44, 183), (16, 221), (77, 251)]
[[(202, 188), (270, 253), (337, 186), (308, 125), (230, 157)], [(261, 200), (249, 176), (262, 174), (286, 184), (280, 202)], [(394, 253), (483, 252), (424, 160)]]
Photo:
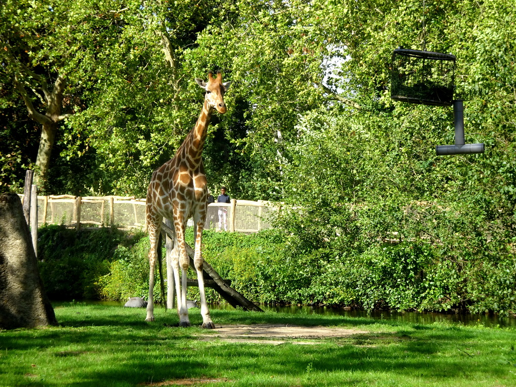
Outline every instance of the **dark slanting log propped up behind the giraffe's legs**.
[[(168, 227), (165, 223), (162, 223), (162, 230), (165, 234), (167, 234), (170, 238), (174, 238), (174, 231)], [(190, 267), (195, 270), (195, 266), (193, 265), (193, 249), (186, 244), (186, 253), (190, 258)], [(224, 300), (228, 301), (228, 303), (234, 308), (242, 308), (245, 311), (255, 311), (255, 312), (263, 312), (260, 307), (249, 301), (243, 295), (238, 293), (235, 289), (233, 289), (229, 281), (224, 281), (219, 273), (215, 271), (215, 269), (204, 261), (203, 264), (203, 274), (204, 274), (204, 286), (212, 287), (218, 294), (224, 298)], [(188, 285), (191, 286), (199, 286), (197, 280), (188, 280)]]

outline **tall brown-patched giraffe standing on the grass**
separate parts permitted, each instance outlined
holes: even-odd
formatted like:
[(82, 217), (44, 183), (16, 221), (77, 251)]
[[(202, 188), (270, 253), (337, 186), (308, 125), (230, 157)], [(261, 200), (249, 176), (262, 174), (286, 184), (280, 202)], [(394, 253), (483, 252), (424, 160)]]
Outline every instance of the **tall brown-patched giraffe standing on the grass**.
[[(208, 193), (202, 163), (202, 149), (213, 111), (217, 110), (219, 114), (226, 112), (224, 93), (230, 87), (231, 82), (222, 83), (220, 71), (217, 72), (217, 77), (209, 72), (208, 82), (199, 78), (196, 78), (196, 82), (206, 91), (204, 105), (197, 123), (183, 140), (174, 158), (168, 160), (153, 172), (147, 191), (146, 221), (151, 247), (149, 250), (149, 300), (146, 321), (154, 321), (154, 270), (157, 249), (160, 248), (158, 240), (161, 224), (163, 218), (165, 218), (171, 221), (174, 230), (172, 254), (170, 257), (167, 256), (167, 271), (170, 273), (172, 267), (173, 281), (169, 280), (168, 282), (169, 286), (172, 282), (175, 282), (175, 290), (178, 296), (179, 325), (180, 327), (190, 326), (186, 306), (186, 272), (189, 258), (185, 248), (185, 228), (187, 220), (193, 216), (195, 228), (195, 256), (193, 261), (199, 282), (202, 327), (213, 329), (215, 325), (209, 315), (202, 273), (204, 261), (201, 254), (201, 239), (206, 218)], [(169, 279), (172, 279), (170, 275)], [(170, 289), (168, 294), (173, 294)]]

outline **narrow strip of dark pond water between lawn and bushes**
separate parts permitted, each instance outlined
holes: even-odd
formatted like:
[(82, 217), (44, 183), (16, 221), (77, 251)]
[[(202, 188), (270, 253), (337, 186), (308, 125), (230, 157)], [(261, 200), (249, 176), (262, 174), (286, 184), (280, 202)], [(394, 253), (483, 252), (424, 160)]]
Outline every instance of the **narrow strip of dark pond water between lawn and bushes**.
[[(86, 301), (88, 303), (123, 306), (124, 302), (120, 301)], [(159, 308), (159, 305), (156, 305)], [(209, 305), (213, 310), (232, 310), (231, 305)], [(362, 311), (362, 310), (344, 310), (340, 308), (321, 308), (309, 306), (271, 306), (260, 305), (266, 312), (278, 312), (289, 314), (315, 314), (326, 316), (343, 316), (343, 317), (365, 317), (379, 320), (394, 320), (400, 322), (410, 322), (412, 324), (433, 324), (433, 322), (449, 322), (458, 325), (482, 325), (485, 327), (502, 327), (516, 328), (516, 317), (501, 317), (497, 315), (487, 314), (467, 314), (467, 313), (431, 313), (431, 312), (393, 312), (393, 311)]]

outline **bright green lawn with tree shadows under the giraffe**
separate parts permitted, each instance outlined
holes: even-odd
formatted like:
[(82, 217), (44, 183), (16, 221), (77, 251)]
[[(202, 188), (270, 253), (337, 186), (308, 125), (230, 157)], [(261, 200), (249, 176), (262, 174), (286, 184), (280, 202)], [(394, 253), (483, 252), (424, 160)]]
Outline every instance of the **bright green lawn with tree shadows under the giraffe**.
[[(55, 308), (59, 327), (0, 332), (7, 386), (514, 386), (513, 329), (310, 314), (213, 310), (216, 326), (293, 324), (362, 333), (318, 344), (204, 341), (174, 311), (81, 303)], [(199, 310), (190, 313), (200, 325)], [(152, 384), (151, 384), (152, 383)], [(190, 383), (190, 384), (188, 384)]]

